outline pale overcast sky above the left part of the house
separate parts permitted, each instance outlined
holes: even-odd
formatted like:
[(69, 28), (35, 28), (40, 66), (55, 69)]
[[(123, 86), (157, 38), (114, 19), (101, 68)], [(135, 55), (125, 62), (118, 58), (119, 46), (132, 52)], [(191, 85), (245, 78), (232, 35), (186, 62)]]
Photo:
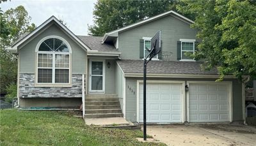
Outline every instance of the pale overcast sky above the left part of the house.
[(1, 3), (1, 10), (6, 11), (22, 5), (36, 26), (54, 15), (64, 20), (74, 34), (88, 35), (88, 24), (93, 25), (94, 3), (96, 0), (8, 0)]

